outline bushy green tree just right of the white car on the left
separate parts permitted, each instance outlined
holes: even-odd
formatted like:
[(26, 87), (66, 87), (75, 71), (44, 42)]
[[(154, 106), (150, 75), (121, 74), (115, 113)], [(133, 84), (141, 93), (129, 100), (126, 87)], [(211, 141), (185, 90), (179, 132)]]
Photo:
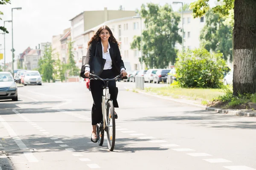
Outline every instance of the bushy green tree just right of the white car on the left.
[(38, 61), (38, 71), (43, 74), (42, 80), (44, 82), (54, 81), (53, 72), (54, 72), (54, 60), (53, 58), (53, 49), (52, 45), (46, 45), (44, 48), (44, 55)]

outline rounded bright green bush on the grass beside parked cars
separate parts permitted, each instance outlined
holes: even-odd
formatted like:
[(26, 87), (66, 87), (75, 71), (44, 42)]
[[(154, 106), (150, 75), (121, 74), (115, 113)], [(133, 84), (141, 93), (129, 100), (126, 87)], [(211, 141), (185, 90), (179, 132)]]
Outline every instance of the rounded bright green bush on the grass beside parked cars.
[(177, 80), (186, 88), (220, 88), (225, 60), (221, 53), (195, 49), (178, 54), (175, 63)]

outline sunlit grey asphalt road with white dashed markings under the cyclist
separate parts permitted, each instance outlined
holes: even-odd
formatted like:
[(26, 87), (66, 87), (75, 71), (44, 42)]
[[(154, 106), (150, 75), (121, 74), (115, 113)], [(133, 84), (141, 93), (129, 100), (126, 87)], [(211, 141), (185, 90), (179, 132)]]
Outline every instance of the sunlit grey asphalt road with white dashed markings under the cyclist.
[(90, 142), (93, 101), (84, 82), (18, 88), (18, 102), (0, 101), (0, 169), (256, 170), (255, 117), (125, 90), (132, 82), (117, 85), (113, 152), (106, 140)]

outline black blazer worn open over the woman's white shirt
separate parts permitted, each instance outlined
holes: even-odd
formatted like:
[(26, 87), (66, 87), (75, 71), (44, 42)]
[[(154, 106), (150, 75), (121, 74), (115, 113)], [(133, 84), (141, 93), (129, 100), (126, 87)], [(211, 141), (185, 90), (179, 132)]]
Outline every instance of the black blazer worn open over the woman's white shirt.
[[(97, 52), (96, 55), (97, 57), (102, 58), (102, 43), (97, 41), (93, 41), (88, 49), (87, 49), (87, 54), (85, 57), (85, 67), (90, 67), (91, 59), (95, 56), (95, 50), (96, 50), (96, 45), (97, 47)], [(122, 61), (122, 57), (120, 54), (119, 47), (117, 43), (109, 42), (110, 48), (109, 48), (109, 53), (110, 57), (112, 59), (112, 68), (114, 71), (115, 76), (121, 74), (121, 68), (125, 68), (124, 62)]]

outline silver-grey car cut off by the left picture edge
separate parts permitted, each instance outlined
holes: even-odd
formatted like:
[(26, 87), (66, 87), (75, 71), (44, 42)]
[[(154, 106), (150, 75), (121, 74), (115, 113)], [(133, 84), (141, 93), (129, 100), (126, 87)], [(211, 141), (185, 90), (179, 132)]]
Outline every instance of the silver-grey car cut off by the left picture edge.
[(12, 99), (18, 101), (16, 79), (10, 72), (0, 72), (0, 99)]

